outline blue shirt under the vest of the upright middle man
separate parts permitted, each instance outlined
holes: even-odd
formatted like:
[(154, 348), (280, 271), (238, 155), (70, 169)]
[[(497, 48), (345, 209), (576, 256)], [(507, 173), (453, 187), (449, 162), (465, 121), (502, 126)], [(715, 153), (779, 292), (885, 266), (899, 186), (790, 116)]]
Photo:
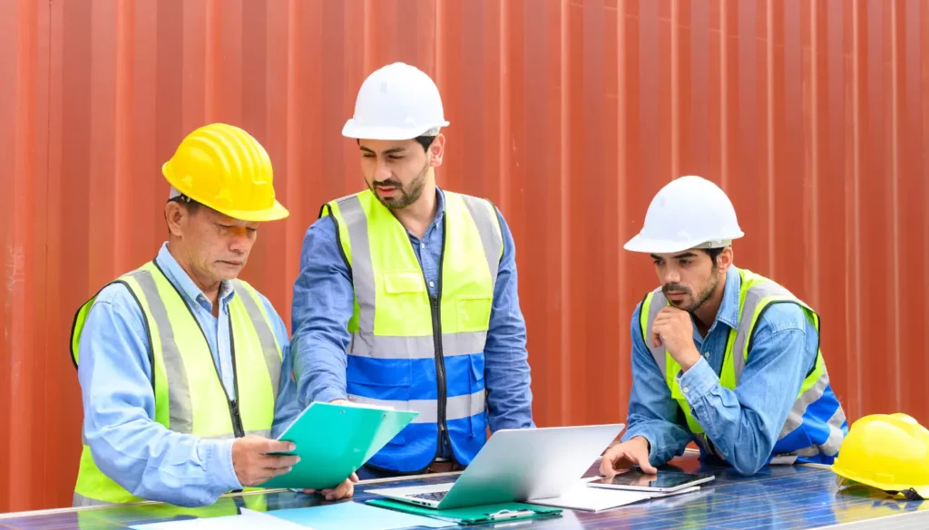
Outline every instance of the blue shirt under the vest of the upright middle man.
[[(428, 281), (438, 290), (442, 253), (443, 192), (437, 188), (436, 217), (419, 239), (407, 230), (410, 244)], [(491, 432), (534, 427), (530, 368), (526, 351), (526, 322), (519, 308), (516, 249), (503, 215), (497, 211), (504, 236), (504, 254), (493, 289), (490, 329), (484, 348), (484, 377)], [(300, 254), (300, 273), (294, 282), (291, 350), (301, 406), (313, 401), (345, 399), (348, 319), (354, 310), (354, 288), (335, 239), (335, 224), (321, 217), (307, 228)], [(444, 447), (441, 456), (449, 456)]]

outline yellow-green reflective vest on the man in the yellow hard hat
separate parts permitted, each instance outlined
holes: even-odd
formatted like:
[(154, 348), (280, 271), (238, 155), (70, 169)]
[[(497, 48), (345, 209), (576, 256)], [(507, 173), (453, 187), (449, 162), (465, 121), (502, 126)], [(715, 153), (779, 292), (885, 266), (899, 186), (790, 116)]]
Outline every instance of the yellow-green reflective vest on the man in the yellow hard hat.
[[(123, 284), (132, 293), (145, 316), (155, 421), (176, 433), (203, 438), (270, 435), (282, 352), (271, 319), (251, 285), (232, 280), (235, 296), (229, 303), (228, 317), (236, 399), (229, 399), (200, 324), (159, 265), (149, 262), (113, 283)], [(71, 344), (75, 368), (80, 360), (81, 333), (95, 300), (97, 295), (74, 317)], [(240, 378), (238, 374), (248, 375)], [(145, 500), (101, 472), (83, 438), (74, 506)]]

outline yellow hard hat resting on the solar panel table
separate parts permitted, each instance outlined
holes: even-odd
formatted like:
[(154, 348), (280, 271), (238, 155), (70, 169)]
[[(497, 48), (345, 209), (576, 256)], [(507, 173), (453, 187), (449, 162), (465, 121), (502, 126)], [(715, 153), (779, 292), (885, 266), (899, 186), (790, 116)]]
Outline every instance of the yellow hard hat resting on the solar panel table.
[(872, 414), (852, 424), (832, 463), (840, 484), (929, 498), (929, 430), (906, 414)]

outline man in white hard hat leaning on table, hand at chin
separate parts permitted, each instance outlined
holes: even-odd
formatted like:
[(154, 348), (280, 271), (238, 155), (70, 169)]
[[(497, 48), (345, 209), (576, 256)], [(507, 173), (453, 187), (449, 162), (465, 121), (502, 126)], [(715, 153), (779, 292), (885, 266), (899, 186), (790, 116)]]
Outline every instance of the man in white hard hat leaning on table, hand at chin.
[(635, 307), (633, 388), (621, 443), (600, 472), (644, 472), (684, 452), (750, 475), (767, 464), (831, 464), (848, 425), (819, 349), (819, 317), (771, 279), (733, 265), (743, 236), (715, 184), (662, 187), (625, 249), (648, 254), (661, 287)]

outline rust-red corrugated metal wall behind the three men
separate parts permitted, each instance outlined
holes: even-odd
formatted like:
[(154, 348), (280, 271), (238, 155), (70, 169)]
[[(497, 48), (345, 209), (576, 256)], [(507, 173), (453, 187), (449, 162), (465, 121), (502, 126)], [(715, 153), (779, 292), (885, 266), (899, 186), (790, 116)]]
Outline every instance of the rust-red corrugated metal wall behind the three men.
[(268, 148), (293, 214), (244, 276), (289, 321), (304, 230), (363, 186), (342, 124), (395, 60), (442, 91), (440, 184), (513, 227), (540, 425), (624, 419), (656, 278), (622, 243), (686, 174), (733, 198), (737, 265), (821, 312), (849, 416), (929, 422), (927, 45), (920, 0), (0, 3), (0, 511), (70, 504), (73, 312), (164, 239), (181, 137)]

